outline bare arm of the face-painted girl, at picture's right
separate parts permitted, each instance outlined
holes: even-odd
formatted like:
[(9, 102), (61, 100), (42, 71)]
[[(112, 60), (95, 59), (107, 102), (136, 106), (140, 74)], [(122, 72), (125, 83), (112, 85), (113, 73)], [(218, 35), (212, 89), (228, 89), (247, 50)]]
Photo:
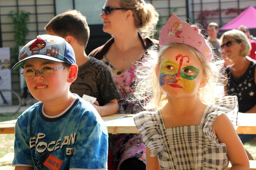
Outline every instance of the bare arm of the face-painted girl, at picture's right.
[(228, 116), (225, 114), (217, 116), (212, 129), (220, 142), (226, 145), (227, 155), (232, 165), (230, 170), (248, 170), (249, 160), (244, 146)]

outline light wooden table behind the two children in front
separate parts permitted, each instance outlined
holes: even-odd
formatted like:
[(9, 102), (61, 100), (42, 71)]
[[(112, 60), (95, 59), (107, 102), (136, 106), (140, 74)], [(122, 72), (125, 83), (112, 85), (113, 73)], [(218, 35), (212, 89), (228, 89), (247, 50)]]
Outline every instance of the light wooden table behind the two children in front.
[[(102, 117), (108, 129), (108, 133), (139, 133), (134, 122), (132, 114), (115, 114)], [(10, 120), (0, 122), (0, 134), (14, 133), (15, 122)], [(256, 113), (239, 113), (238, 134), (256, 134)]]

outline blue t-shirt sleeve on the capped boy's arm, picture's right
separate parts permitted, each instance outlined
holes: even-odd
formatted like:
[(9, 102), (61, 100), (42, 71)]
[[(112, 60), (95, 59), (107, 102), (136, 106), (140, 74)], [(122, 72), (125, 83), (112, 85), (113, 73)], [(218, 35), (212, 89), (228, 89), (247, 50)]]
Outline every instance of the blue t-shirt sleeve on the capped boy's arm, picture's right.
[(70, 169), (107, 168), (108, 135), (105, 128), (97, 122), (78, 131)]

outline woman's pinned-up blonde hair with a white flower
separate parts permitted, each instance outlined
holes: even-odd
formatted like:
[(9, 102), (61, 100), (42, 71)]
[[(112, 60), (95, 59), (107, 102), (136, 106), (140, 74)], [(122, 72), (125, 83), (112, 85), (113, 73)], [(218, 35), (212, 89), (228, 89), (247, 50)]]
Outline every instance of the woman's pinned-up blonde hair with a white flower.
[[(137, 10), (135, 5), (142, 3), (142, 9)], [(135, 26), (147, 36), (154, 35), (156, 24), (158, 23), (159, 14), (154, 6), (146, 3), (144, 0), (119, 0), (121, 8), (127, 8), (133, 11)]]

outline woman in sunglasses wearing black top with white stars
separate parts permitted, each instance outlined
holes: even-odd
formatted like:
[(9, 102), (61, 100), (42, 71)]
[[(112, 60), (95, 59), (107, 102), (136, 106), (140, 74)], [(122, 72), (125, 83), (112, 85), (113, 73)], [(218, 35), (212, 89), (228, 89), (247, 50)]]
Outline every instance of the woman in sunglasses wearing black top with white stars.
[[(225, 91), (228, 95), (236, 95), (238, 99), (238, 112), (256, 113), (256, 61), (247, 55), (251, 51), (251, 43), (244, 32), (233, 29), (220, 38), (221, 49), (231, 64), (225, 68), (228, 82)], [(256, 135), (240, 134), (242, 143)], [(251, 155), (247, 152), (249, 159)]]

